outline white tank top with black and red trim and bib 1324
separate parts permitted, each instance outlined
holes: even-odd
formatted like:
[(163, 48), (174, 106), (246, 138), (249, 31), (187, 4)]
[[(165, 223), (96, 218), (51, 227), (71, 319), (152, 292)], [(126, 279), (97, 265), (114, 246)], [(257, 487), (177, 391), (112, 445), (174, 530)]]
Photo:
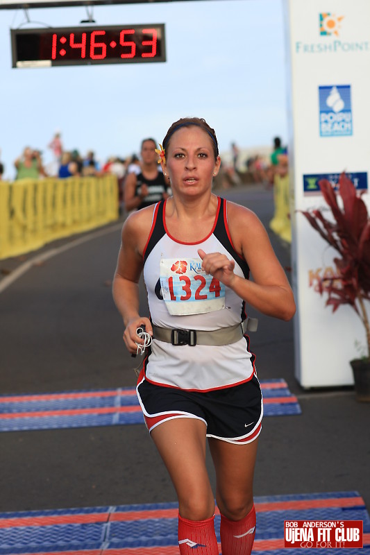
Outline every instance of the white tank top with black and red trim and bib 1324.
[[(235, 273), (249, 278), (249, 266), (235, 252), (227, 225), (226, 200), (218, 198), (210, 234), (197, 243), (184, 243), (169, 234), (166, 201), (155, 205), (149, 239), (144, 248), (144, 282), (151, 321), (182, 330), (217, 330), (246, 318), (244, 301), (201, 270), (197, 250), (223, 253), (235, 261)], [(171, 345), (153, 340), (145, 361), (149, 382), (191, 391), (210, 391), (249, 381), (254, 372), (249, 338), (222, 346)]]

